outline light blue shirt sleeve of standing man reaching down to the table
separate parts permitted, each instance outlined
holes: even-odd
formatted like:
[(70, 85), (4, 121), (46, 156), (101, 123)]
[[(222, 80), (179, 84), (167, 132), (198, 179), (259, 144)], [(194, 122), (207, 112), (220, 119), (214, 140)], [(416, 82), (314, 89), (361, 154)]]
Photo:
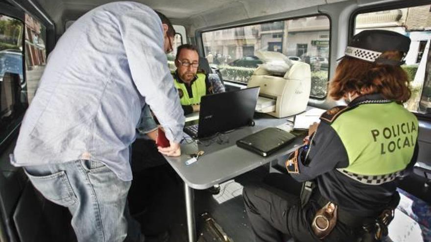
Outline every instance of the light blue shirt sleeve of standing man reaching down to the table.
[(168, 69), (159, 17), (149, 8), (125, 12), (120, 31), (136, 88), (164, 127), (167, 138), (179, 143), (184, 114)]

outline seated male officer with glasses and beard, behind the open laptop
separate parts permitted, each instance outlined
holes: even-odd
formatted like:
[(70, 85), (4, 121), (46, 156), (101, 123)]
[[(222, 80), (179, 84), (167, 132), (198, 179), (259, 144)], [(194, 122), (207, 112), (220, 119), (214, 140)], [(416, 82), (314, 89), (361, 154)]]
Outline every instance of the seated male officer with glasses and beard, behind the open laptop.
[[(200, 98), (206, 94), (224, 92), (221, 81), (211, 81), (205, 73), (198, 73), (199, 55), (192, 44), (178, 46), (175, 57), (177, 70), (172, 74), (175, 88), (180, 95), (184, 114), (198, 112)], [(207, 73), (209, 74), (209, 73)], [(217, 77), (212, 75), (212, 77)]]

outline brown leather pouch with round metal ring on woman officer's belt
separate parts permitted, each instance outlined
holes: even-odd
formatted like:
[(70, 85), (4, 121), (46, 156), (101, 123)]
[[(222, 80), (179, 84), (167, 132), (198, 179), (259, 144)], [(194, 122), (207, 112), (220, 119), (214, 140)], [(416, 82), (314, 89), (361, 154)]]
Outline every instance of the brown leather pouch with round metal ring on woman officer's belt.
[(337, 210), (338, 206), (330, 201), (316, 212), (311, 223), (311, 228), (317, 238), (325, 238), (334, 229), (337, 220)]

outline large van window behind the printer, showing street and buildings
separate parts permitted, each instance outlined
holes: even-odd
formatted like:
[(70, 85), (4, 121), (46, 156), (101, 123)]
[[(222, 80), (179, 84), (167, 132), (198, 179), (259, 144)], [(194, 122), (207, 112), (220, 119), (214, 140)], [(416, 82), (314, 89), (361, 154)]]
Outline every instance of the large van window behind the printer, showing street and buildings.
[(330, 21), (325, 15), (266, 22), (202, 33), (205, 56), (223, 78), (246, 84), (262, 64), (258, 50), (278, 51), (311, 66), (311, 96), (327, 93)]

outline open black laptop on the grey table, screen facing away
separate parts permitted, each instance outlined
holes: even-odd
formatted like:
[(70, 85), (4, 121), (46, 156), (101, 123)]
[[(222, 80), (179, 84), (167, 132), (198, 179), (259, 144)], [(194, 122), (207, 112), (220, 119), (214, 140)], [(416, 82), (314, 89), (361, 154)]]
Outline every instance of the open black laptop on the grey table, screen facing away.
[(205, 95), (200, 101), (199, 123), (184, 128), (193, 138), (204, 138), (253, 122), (259, 87)]

